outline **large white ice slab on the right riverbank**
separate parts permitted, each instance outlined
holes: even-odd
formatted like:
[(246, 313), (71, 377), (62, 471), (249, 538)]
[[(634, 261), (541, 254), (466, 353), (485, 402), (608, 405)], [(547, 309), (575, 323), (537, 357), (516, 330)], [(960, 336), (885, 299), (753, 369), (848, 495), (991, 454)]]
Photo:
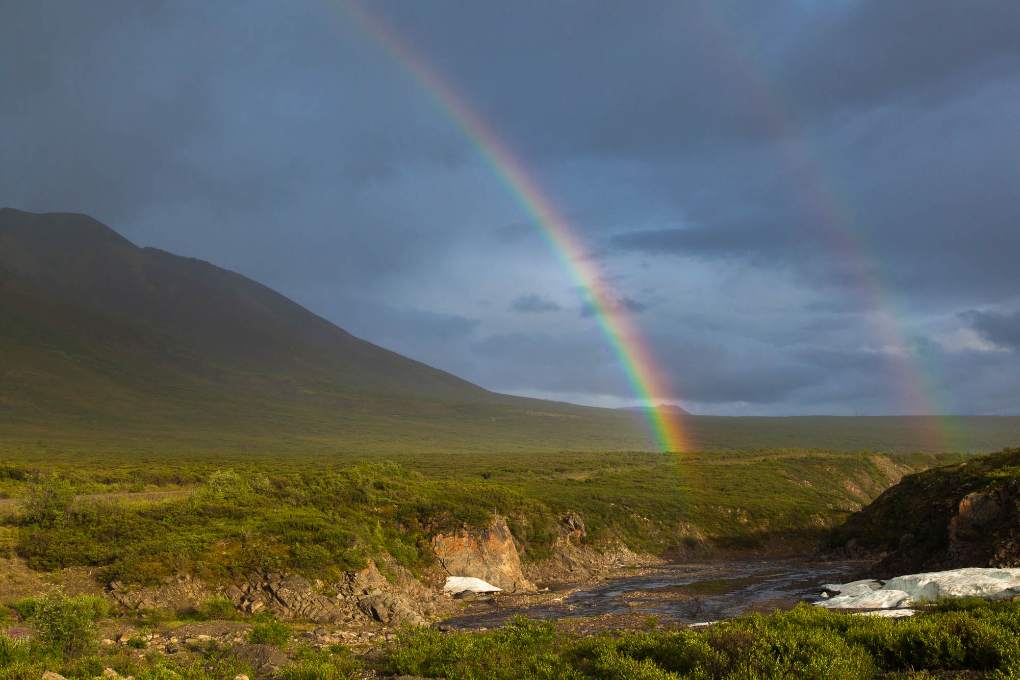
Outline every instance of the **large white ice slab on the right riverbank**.
[(884, 584), (879, 581), (825, 584), (822, 595), (833, 596), (815, 602), (817, 606), (847, 610), (902, 608), (918, 599), (939, 597), (1012, 599), (1020, 595), (1020, 569), (972, 567), (898, 576)]

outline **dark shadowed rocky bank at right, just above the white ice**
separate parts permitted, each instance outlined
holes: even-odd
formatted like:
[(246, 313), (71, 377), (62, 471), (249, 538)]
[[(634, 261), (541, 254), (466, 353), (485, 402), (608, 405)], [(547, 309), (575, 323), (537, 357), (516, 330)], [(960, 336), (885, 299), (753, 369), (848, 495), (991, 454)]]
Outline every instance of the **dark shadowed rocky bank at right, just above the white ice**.
[(837, 527), (830, 543), (855, 539), (870, 550), (894, 551), (884, 564), (902, 573), (1020, 564), (1018, 480), (1020, 448), (908, 475)]

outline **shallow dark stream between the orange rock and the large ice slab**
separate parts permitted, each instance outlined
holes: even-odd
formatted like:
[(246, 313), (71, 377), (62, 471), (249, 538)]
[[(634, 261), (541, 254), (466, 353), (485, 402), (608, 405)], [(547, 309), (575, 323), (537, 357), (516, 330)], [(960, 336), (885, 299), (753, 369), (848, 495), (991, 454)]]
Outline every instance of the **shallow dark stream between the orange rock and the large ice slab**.
[(694, 624), (751, 612), (787, 610), (818, 598), (818, 585), (846, 582), (856, 565), (793, 560), (663, 565), (619, 574), (601, 585), (551, 591), (523, 603), (470, 603), (453, 628), (493, 628), (515, 615), (531, 619), (574, 619), (653, 614), (660, 623)]

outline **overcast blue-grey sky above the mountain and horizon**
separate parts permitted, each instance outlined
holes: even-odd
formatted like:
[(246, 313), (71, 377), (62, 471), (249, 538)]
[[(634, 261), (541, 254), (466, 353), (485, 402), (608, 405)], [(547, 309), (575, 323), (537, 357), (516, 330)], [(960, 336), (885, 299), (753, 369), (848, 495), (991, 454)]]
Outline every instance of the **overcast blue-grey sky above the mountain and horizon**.
[[(699, 414), (1020, 414), (1016, 0), (364, 2), (513, 150)], [(487, 388), (636, 403), (341, 1), (0, 0), (0, 206), (91, 214)]]

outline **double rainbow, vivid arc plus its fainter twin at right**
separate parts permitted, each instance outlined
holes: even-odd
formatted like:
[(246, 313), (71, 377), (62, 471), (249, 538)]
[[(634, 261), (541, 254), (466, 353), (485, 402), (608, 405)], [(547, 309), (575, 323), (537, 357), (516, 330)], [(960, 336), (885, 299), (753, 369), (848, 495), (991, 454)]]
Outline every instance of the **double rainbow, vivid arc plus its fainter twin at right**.
[[(632, 321), (617, 303), (613, 291), (585, 257), (585, 248), (575, 230), (556, 211), (516, 156), (438, 72), (386, 23), (365, 9), (359, 0), (344, 0), (343, 5), (365, 33), (406, 69), (415, 85), (463, 131), (494, 174), (538, 225), (593, 310), (608, 344), (619, 358), (633, 394), (649, 406), (673, 400), (663, 372), (658, 369)], [(703, 27), (716, 34), (712, 42), (718, 46), (717, 57), (728, 60), (734, 67), (731, 72), (742, 81), (740, 85), (756, 102), (760, 122), (771, 130), (776, 139), (784, 140), (785, 162), (795, 174), (806, 178), (802, 195), (808, 199), (808, 210), (831, 251), (842, 255), (850, 265), (850, 273), (857, 284), (858, 302), (869, 312), (882, 343), (875, 351), (888, 361), (890, 382), (902, 399), (902, 407), (906, 412), (913, 414), (941, 412), (944, 409), (936, 407), (934, 399), (935, 381), (913, 357), (911, 343), (900, 322), (901, 314), (897, 313), (888, 287), (883, 285), (871, 265), (873, 258), (869, 257), (861, 236), (863, 232), (853, 210), (821, 172), (819, 160), (804, 141), (804, 136), (799, 134), (796, 117), (784, 106), (777, 89), (769, 85), (764, 70), (754, 63), (748, 50), (742, 49), (738, 37), (730, 28), (730, 22), (721, 15), (720, 8), (711, 2), (697, 0), (692, 6), (700, 10)], [(805, 169), (808, 172), (799, 172)], [(680, 419), (654, 407), (646, 409), (646, 412), (660, 448), (667, 451), (690, 448)], [(946, 447), (950, 433), (940, 419), (931, 419), (922, 426), (922, 430), (926, 431), (919, 433), (919, 439), (925, 441), (919, 440), (919, 444), (925, 448)]]

